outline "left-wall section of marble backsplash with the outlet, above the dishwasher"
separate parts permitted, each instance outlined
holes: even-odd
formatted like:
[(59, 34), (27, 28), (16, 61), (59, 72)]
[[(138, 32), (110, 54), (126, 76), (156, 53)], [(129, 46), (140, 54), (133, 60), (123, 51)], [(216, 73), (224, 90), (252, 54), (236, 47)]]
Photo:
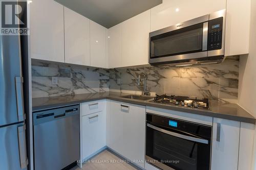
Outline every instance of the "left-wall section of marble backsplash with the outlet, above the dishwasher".
[[(55, 62), (32, 60), (32, 98), (109, 91), (110, 71)], [(58, 84), (52, 84), (58, 77)]]

